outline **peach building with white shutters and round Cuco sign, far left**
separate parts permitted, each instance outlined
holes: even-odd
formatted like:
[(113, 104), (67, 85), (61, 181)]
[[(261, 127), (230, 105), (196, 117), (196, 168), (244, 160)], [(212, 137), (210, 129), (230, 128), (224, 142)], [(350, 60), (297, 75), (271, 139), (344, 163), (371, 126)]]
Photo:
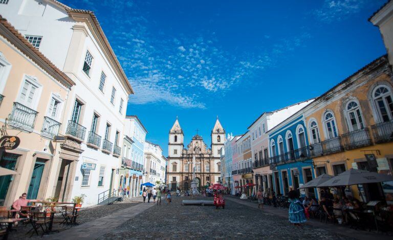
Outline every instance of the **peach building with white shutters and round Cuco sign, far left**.
[(50, 197), (60, 145), (53, 138), (74, 84), (0, 16), (2, 137), (20, 140), (14, 149), (0, 144), (0, 166), (18, 173), (0, 177), (0, 205), (11, 206), (24, 192), (28, 199)]

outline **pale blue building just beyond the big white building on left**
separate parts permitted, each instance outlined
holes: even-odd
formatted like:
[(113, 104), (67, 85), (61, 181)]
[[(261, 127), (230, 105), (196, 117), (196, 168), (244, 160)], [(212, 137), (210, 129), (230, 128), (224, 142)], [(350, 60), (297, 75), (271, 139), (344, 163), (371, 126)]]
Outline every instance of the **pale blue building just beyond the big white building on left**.
[(144, 143), (147, 130), (137, 116), (126, 116), (124, 123), (124, 140), (120, 186), (127, 188), (128, 197), (141, 193), (146, 167), (143, 165)]

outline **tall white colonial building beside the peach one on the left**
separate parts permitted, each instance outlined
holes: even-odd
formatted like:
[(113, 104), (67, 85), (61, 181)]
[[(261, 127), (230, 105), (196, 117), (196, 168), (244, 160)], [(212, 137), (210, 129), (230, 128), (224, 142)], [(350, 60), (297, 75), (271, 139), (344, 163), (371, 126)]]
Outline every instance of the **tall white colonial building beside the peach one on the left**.
[[(59, 201), (117, 188), (128, 95), (128, 82), (93, 12), (72, 9), (54, 0), (13, 0), (0, 14), (47, 56), (76, 85), (64, 104), (57, 171), (49, 183)], [(57, 102), (54, 103), (56, 106)]]

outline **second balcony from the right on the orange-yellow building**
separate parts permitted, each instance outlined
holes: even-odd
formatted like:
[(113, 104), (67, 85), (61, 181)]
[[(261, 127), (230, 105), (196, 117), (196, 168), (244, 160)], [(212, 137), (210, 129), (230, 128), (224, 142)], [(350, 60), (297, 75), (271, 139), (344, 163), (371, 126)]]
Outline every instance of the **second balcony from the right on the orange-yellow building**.
[(358, 129), (341, 136), (345, 150), (365, 147), (372, 144), (368, 128)]

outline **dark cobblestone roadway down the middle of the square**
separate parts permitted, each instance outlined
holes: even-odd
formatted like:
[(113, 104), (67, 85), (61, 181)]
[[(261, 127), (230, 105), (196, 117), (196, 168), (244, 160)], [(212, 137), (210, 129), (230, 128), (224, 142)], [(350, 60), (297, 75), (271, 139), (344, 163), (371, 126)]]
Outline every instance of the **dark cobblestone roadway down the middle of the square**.
[(214, 206), (182, 206), (176, 198), (153, 206), (99, 239), (350, 239), (324, 229), (292, 226), (288, 219), (226, 201), (225, 209)]

